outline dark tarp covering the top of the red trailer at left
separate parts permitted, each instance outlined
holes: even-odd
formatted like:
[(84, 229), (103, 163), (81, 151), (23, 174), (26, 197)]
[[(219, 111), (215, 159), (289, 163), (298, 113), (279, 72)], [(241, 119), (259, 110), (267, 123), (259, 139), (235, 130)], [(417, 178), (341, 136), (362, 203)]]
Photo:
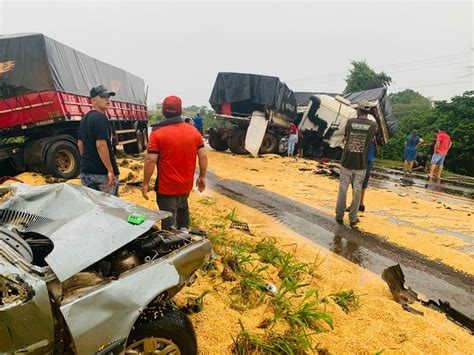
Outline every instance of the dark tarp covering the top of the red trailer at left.
[(89, 96), (103, 84), (114, 101), (145, 105), (143, 79), (41, 33), (0, 36), (0, 98), (55, 90)]

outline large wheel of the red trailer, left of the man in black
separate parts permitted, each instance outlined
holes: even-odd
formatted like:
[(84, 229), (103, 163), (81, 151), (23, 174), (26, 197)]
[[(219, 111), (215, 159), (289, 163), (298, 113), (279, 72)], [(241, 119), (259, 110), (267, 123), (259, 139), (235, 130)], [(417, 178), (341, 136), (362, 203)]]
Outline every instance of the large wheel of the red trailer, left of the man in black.
[[(79, 175), (81, 156), (77, 146), (68, 141), (53, 143), (46, 152), (46, 170), (52, 176), (73, 179)], [(39, 170), (43, 170), (42, 166)]]

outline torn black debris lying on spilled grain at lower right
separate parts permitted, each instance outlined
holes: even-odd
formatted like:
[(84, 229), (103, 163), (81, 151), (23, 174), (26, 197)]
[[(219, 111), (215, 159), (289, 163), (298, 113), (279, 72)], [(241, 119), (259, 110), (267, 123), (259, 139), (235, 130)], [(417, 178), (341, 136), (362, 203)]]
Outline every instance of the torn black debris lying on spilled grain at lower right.
[(410, 287), (405, 286), (405, 275), (403, 274), (400, 264), (390, 266), (382, 272), (382, 279), (390, 287), (393, 298), (400, 303), (403, 309), (413, 314), (423, 315), (412, 307), (410, 304), (414, 302), (421, 302), (425, 307), (437, 310), (438, 312), (446, 314), (446, 316), (453, 322), (467, 328), (471, 333), (474, 333), (474, 320), (451, 307), (449, 302), (439, 300), (439, 303), (433, 300), (424, 300), (416, 291)]

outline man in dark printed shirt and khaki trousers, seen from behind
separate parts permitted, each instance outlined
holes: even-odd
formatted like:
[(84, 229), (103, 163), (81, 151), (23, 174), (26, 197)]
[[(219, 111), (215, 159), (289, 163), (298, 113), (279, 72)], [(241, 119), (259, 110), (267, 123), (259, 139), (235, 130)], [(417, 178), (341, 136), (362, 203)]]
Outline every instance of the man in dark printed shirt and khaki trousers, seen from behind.
[(344, 151), (341, 158), (341, 174), (339, 177), (339, 192), (336, 204), (336, 221), (343, 224), (346, 196), (349, 184), (352, 184), (352, 203), (349, 208), (350, 226), (359, 223), (357, 211), (360, 205), (362, 183), (365, 178), (369, 143), (374, 141), (377, 125), (367, 117), (370, 103), (366, 100), (357, 106), (357, 118), (351, 118), (346, 123), (344, 134)]

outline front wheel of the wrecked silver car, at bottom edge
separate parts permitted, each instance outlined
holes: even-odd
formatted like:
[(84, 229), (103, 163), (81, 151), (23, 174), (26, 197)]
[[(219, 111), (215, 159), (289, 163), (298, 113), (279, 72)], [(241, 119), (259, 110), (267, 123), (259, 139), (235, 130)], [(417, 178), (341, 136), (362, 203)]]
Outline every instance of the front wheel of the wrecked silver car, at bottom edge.
[(197, 354), (196, 334), (183, 312), (168, 308), (155, 317), (134, 326), (125, 354)]

